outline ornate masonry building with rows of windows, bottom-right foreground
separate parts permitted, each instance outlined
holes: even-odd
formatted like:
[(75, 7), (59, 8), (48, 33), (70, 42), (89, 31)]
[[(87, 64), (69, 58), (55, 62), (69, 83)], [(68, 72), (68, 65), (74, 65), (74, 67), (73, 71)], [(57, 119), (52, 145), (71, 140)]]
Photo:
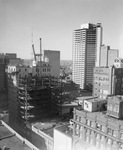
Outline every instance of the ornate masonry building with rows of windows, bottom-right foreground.
[[(123, 101), (123, 97), (118, 97)], [(123, 147), (123, 120), (107, 115), (106, 111), (88, 112), (74, 109), (73, 150)]]

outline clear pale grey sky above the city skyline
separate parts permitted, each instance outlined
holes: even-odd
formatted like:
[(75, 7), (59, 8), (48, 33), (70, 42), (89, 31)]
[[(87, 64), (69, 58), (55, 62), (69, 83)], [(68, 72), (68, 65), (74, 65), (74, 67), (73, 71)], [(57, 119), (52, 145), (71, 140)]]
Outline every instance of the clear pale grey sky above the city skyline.
[(0, 0), (0, 53), (33, 57), (32, 43), (72, 59), (72, 33), (84, 23), (102, 23), (103, 44), (123, 57), (123, 0)]

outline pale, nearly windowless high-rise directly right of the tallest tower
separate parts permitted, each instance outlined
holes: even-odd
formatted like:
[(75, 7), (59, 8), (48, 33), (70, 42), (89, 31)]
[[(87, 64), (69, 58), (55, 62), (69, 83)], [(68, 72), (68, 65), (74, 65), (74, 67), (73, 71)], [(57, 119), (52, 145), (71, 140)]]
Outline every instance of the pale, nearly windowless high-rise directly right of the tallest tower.
[(117, 49), (110, 49), (110, 46), (101, 46), (101, 60), (100, 66), (112, 66), (114, 60), (119, 57), (119, 51)]

